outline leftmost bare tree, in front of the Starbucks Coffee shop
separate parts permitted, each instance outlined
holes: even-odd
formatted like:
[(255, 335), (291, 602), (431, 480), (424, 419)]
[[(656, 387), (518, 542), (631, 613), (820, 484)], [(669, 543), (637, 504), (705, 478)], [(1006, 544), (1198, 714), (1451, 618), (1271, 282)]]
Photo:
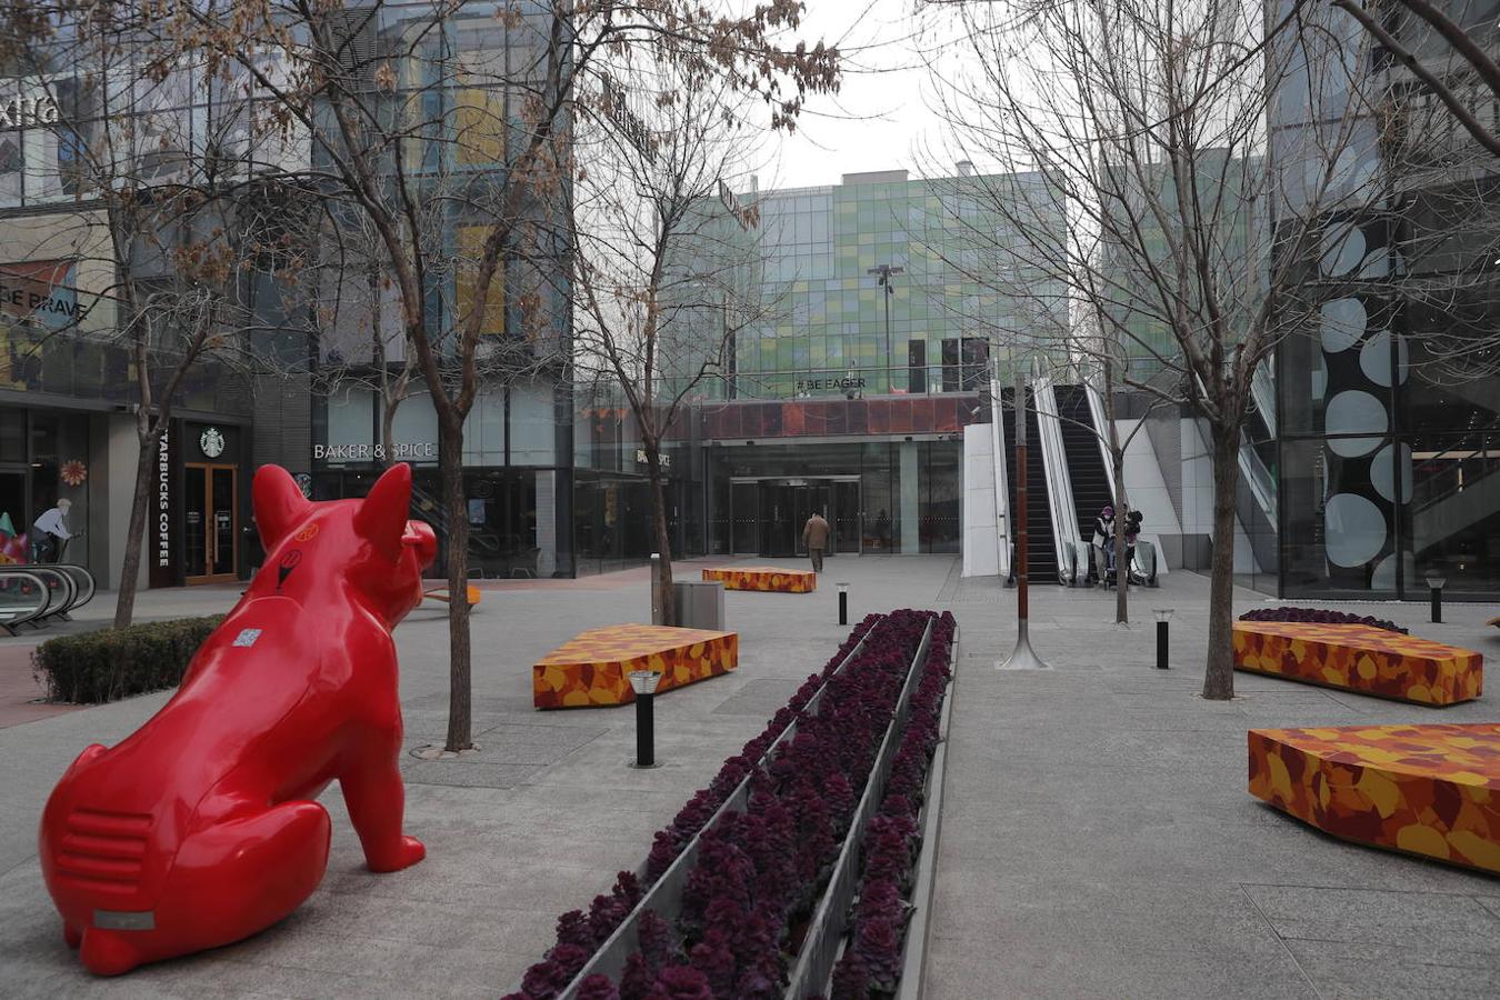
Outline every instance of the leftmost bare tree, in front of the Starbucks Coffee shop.
[[(138, 45), (150, 19), (132, 4), (0, 13), (0, 48), (48, 102), (33, 124), (68, 165), (33, 183), (72, 195), (66, 240), (81, 262), (112, 274), (104, 288), (78, 289), (116, 315), (112, 330), (87, 336), (129, 357), (138, 457), (117, 628), (134, 618), (152, 475), (184, 384), (201, 369), (244, 367), (255, 327), (248, 273), (272, 268), (294, 280), (298, 265), (286, 238), (285, 220), (296, 216), (288, 192), (254, 166), (267, 147), (279, 148), (276, 130), (226, 88), (210, 94), (201, 64), (150, 72)], [(78, 324), (52, 336), (80, 336)]]

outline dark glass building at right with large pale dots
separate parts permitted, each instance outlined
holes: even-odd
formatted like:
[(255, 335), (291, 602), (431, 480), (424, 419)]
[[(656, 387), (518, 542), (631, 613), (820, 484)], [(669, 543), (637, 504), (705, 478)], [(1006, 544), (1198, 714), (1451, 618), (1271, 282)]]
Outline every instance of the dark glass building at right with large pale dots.
[[(1494, 51), (1496, 34), (1482, 30), (1494, 24), (1492, 3), (1442, 6)], [(1358, 69), (1354, 79), (1389, 103), (1380, 120), (1352, 115), (1341, 168), (1382, 193), (1329, 213), (1300, 262), (1317, 321), (1276, 355), (1276, 435), (1266, 451), (1276, 466), (1280, 558), (1264, 589), (1420, 600), (1428, 579), (1442, 577), (1450, 597), (1494, 598), (1500, 171), (1353, 19), (1334, 9), (1318, 16), (1317, 42), (1300, 43), (1280, 84), (1272, 154), (1288, 174), (1305, 172), (1298, 150), (1359, 108), (1347, 75)], [(1392, 30), (1437, 72), (1444, 58), (1462, 69), (1420, 21)], [(1473, 99), (1476, 118), (1497, 118), (1494, 94), (1480, 88)]]

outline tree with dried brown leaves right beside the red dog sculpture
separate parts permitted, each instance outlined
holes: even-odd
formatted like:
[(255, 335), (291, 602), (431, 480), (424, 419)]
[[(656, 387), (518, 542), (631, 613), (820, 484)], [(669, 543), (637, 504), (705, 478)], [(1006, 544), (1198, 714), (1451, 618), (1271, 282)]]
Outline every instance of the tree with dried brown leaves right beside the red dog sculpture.
[[(322, 195), (378, 235), (436, 412), (450, 592), (466, 580), (464, 424), (482, 388), (480, 358), (504, 327), (512, 276), (520, 271), (525, 285), (528, 270), (566, 258), (570, 141), (579, 111), (608, 103), (603, 70), (634, 58), (692, 69), (764, 99), (771, 124), (789, 127), (807, 93), (837, 82), (832, 49), (783, 43), (801, 12), (782, 0), (742, 13), (693, 0), (170, 4), (164, 58), (201, 52), (243, 66), (310, 136)], [(438, 202), (448, 211), (429, 211)], [(566, 357), (546, 322), (556, 310), (540, 291), (518, 298), (522, 328), (498, 340), (530, 342), (528, 357)], [(470, 607), (452, 601), (448, 613), (446, 745), (456, 751), (471, 745)]]

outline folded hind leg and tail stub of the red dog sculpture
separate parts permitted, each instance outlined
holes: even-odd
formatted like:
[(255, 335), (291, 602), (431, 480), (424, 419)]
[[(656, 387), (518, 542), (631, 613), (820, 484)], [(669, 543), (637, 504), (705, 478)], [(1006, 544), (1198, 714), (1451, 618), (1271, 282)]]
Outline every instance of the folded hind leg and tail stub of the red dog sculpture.
[[(93, 922), (82, 928), (80, 958), (88, 972), (116, 976), (270, 927), (318, 888), (328, 864), (330, 831), (321, 805), (297, 801), (189, 835), (156, 909), (94, 910)], [(64, 934), (72, 939), (75, 931)]]

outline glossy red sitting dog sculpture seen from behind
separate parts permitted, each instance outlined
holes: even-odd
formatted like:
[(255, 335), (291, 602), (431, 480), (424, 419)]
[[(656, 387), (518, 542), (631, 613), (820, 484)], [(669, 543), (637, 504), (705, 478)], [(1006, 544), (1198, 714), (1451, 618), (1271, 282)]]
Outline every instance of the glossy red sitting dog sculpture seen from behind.
[(255, 474), (266, 565), (182, 688), (111, 750), (94, 744), (42, 814), (42, 876), (63, 936), (98, 975), (214, 948), (291, 913), (322, 880), (334, 778), (372, 871), (426, 850), (402, 837), (400, 702), (390, 630), (436, 553), (408, 522), (411, 469), (363, 501), (314, 504)]

